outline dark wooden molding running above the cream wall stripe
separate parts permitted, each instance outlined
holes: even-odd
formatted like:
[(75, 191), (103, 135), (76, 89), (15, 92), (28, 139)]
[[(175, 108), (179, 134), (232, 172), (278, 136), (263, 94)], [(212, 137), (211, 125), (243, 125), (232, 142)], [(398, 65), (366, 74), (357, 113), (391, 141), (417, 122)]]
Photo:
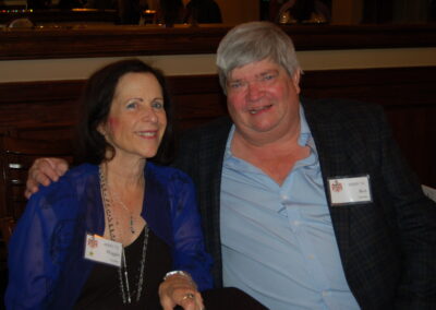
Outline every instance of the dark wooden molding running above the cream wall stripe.
[[(431, 25), (288, 25), (296, 50), (436, 46)], [(230, 26), (60, 26), (0, 31), (0, 60), (215, 53)]]

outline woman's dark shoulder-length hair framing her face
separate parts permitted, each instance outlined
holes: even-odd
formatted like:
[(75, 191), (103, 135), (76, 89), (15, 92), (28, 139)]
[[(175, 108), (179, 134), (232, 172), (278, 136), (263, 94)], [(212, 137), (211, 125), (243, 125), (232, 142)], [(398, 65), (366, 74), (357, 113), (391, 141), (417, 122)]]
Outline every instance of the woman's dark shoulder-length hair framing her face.
[(86, 82), (81, 99), (81, 119), (76, 130), (75, 164), (98, 165), (105, 159), (111, 159), (105, 157), (107, 150), (111, 150), (112, 157), (114, 156), (116, 150), (98, 131), (98, 126), (108, 120), (118, 82), (128, 73), (150, 73), (158, 81), (164, 95), (167, 128), (156, 156), (150, 159), (159, 164), (168, 164), (172, 159), (174, 147), (172, 107), (166, 79), (160, 70), (138, 59), (128, 59), (99, 69)]

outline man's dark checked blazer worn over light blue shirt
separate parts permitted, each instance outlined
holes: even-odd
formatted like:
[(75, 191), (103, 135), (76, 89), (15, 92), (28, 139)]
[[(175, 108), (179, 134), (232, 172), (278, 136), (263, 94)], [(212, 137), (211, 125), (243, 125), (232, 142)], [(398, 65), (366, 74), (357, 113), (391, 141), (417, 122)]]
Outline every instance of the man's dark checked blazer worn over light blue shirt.
[[(302, 105), (327, 200), (327, 178), (370, 176), (373, 202), (329, 203), (342, 266), (359, 305), (372, 310), (436, 309), (436, 204), (423, 194), (400, 155), (382, 108), (342, 100), (303, 100)], [(221, 170), (231, 124), (223, 118), (186, 132), (174, 163), (197, 186), (218, 287), (222, 286)]]

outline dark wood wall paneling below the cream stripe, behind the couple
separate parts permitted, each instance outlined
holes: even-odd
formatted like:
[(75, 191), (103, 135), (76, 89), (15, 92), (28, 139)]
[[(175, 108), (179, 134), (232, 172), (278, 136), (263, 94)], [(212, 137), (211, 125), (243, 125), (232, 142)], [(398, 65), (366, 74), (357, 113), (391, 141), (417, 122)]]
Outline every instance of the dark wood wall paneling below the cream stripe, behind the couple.
[[(215, 75), (169, 76), (181, 129), (227, 114)], [(0, 84), (0, 131), (32, 139), (72, 136), (84, 81)], [(421, 182), (436, 187), (436, 67), (308, 71), (305, 97), (341, 97), (384, 106), (393, 136)]]

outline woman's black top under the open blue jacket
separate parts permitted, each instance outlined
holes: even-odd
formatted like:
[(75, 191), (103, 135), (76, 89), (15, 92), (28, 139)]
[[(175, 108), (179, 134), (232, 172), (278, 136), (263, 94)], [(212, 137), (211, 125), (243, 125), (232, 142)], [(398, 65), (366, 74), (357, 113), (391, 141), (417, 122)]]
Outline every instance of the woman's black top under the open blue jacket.
[(122, 302), (118, 267), (96, 263), (82, 289), (75, 309), (161, 309), (158, 288), (165, 274), (171, 270), (170, 249), (152, 230), (148, 231), (143, 289), (140, 302), (136, 303), (143, 245), (144, 230), (132, 245), (124, 248), (132, 298), (131, 305), (123, 305)]

